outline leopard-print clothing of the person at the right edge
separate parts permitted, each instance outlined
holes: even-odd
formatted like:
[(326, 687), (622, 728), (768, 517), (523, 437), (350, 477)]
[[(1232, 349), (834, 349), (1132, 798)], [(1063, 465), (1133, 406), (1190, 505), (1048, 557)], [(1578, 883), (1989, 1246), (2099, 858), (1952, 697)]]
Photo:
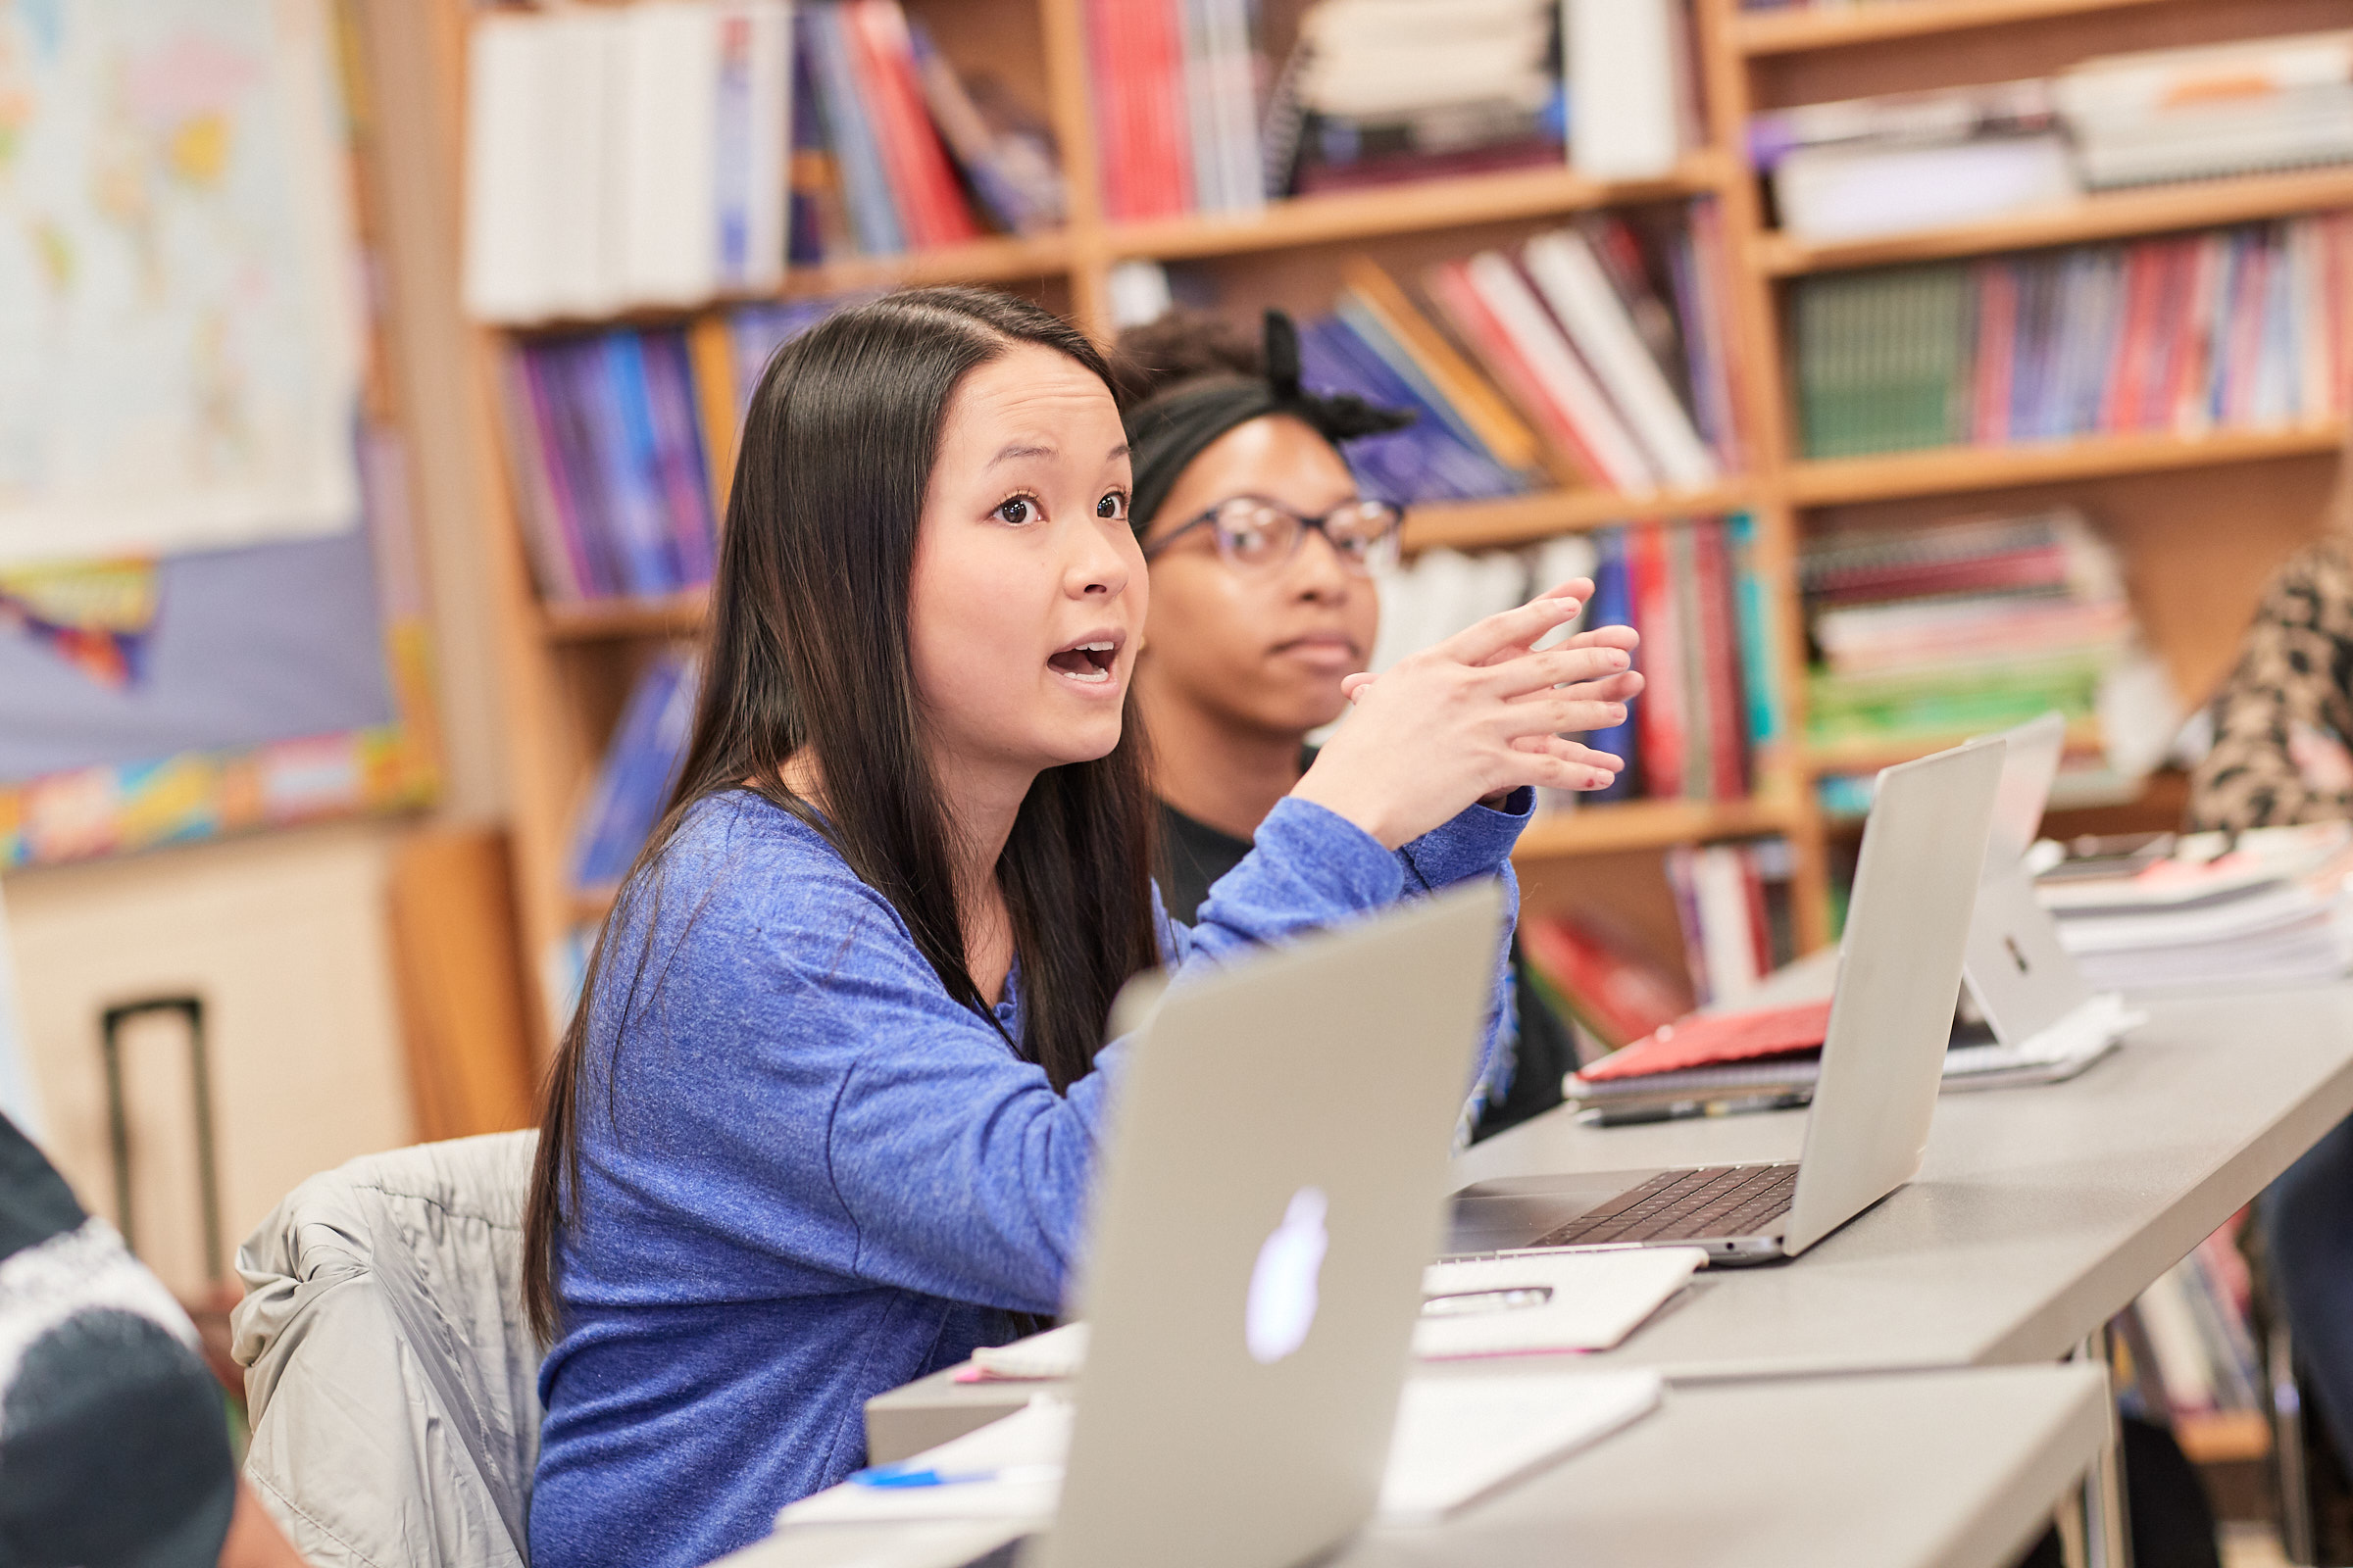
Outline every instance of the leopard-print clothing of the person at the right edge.
[(2292, 738), (2353, 745), (2353, 559), (2320, 543), (2287, 562), (2214, 696), (2214, 750), (2191, 776), (2193, 827), (2353, 818), (2353, 788), (2297, 766)]

